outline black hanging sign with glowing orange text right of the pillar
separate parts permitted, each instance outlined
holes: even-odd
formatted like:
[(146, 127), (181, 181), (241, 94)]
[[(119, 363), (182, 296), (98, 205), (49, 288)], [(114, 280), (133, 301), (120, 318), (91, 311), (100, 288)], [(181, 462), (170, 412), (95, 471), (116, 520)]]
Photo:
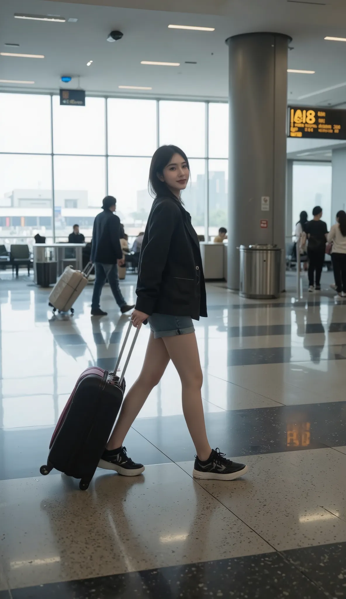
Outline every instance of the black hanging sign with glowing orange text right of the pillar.
[(346, 110), (289, 106), (288, 137), (346, 140)]

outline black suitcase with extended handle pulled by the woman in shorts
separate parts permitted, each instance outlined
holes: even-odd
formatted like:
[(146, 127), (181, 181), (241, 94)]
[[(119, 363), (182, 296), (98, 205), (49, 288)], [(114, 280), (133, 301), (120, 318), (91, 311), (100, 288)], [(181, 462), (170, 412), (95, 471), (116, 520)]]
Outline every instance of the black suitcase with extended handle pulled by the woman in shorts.
[(81, 491), (89, 487), (122, 405), (124, 375), (139, 329), (136, 329), (120, 377), (117, 376), (117, 368), (131, 328), (132, 322), (129, 323), (114, 373), (92, 367), (84, 370), (77, 380), (51, 437), (47, 464), (41, 466), (41, 474), (48, 474), (56, 468), (68, 476), (81, 479)]

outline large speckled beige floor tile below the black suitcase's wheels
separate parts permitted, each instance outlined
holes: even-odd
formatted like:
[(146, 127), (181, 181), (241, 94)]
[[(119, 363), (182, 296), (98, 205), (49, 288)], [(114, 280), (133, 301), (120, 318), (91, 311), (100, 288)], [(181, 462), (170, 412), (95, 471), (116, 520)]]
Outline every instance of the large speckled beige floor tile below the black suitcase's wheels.
[(86, 492), (63, 475), (1, 486), (10, 588), (271, 552), (175, 464), (101, 473)]

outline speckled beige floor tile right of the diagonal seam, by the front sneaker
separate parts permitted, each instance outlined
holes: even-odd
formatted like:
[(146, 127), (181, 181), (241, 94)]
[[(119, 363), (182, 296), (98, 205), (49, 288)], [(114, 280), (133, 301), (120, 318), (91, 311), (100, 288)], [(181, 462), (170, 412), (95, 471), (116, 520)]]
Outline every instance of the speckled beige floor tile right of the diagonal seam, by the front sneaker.
[[(346, 541), (346, 456), (333, 449), (247, 456), (232, 486), (199, 483), (275, 549)], [(192, 462), (180, 464), (187, 473)]]

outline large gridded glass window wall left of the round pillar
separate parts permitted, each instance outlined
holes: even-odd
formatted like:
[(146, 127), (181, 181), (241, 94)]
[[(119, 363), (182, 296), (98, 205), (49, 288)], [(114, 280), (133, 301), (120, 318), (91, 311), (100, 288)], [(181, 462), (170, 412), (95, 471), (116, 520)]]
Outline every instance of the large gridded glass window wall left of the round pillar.
[(159, 145), (186, 152), (183, 193), (199, 235), (227, 226), (227, 104), (0, 93), (0, 244), (67, 241), (72, 226), (90, 240), (102, 198), (117, 198), (129, 237), (145, 228), (151, 156)]

